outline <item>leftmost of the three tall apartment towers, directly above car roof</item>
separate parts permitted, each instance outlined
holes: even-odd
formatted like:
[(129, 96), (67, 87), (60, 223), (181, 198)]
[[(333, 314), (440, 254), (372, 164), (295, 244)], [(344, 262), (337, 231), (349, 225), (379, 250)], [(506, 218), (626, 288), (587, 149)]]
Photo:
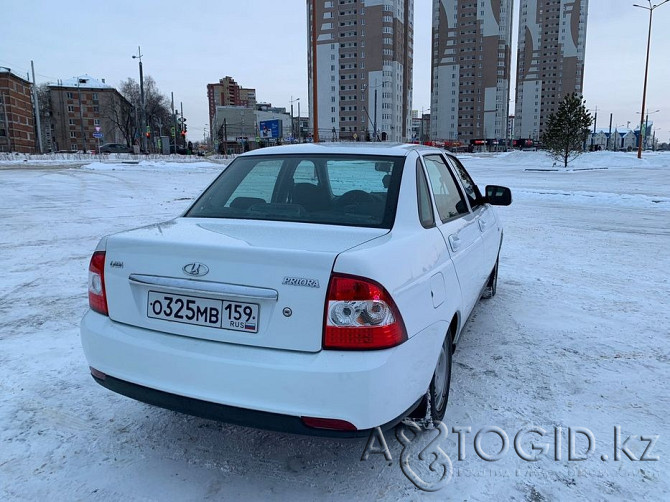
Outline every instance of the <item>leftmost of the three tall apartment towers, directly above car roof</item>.
[(307, 0), (307, 14), (319, 138), (363, 141), (376, 129), (381, 140), (408, 140), (414, 0)]

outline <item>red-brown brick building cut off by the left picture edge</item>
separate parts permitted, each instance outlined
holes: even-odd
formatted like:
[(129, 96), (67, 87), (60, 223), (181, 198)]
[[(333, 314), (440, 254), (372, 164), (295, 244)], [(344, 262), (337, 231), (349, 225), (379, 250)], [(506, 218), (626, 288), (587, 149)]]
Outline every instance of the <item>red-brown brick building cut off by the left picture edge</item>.
[(35, 153), (32, 84), (0, 67), (0, 152)]

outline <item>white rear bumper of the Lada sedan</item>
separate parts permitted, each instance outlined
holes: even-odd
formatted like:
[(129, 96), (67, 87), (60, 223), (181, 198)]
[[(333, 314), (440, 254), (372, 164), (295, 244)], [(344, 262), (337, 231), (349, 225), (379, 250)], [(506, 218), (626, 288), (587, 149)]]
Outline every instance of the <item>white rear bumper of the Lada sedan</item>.
[(300, 417), (345, 420), (358, 431), (397, 423), (426, 392), (446, 330), (437, 324), (387, 350), (303, 353), (170, 335), (90, 311), (81, 322), (88, 363), (107, 375), (96, 380), (115, 392), (205, 418), (309, 434), (319, 430)]

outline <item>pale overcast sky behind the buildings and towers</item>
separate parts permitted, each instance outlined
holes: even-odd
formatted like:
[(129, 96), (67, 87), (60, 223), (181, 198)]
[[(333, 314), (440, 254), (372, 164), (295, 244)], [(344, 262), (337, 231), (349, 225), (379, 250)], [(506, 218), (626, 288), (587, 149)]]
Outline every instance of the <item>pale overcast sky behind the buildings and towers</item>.
[[(654, 0), (660, 3), (661, 0)], [(207, 84), (225, 76), (256, 89), (259, 101), (307, 109), (305, 0), (3, 0), (0, 65), (37, 83), (89, 74), (118, 87), (144, 74), (184, 104), (190, 139), (209, 122)], [(640, 120), (649, 15), (633, 0), (591, 0), (584, 95), (598, 127)], [(637, 3), (647, 4), (646, 0)], [(415, 0), (414, 109), (430, 106), (432, 0)], [(519, 0), (515, 0), (514, 22)], [(515, 30), (516, 31), (516, 30)], [(516, 39), (516, 36), (515, 36)], [(670, 138), (670, 2), (654, 11), (647, 92), (657, 135)], [(511, 97), (512, 100), (514, 96)], [(659, 130), (660, 128), (660, 130)]]

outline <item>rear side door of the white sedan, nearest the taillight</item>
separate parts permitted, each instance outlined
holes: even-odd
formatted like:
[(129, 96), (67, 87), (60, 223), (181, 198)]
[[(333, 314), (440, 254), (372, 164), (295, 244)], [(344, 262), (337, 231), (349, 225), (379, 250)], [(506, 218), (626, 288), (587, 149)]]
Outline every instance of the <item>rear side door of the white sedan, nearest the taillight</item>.
[(461, 188), (439, 153), (422, 156), (433, 200), (437, 225), (442, 233), (463, 297), (463, 314), (470, 314), (481, 292), (484, 245), (477, 217), (465, 200)]

